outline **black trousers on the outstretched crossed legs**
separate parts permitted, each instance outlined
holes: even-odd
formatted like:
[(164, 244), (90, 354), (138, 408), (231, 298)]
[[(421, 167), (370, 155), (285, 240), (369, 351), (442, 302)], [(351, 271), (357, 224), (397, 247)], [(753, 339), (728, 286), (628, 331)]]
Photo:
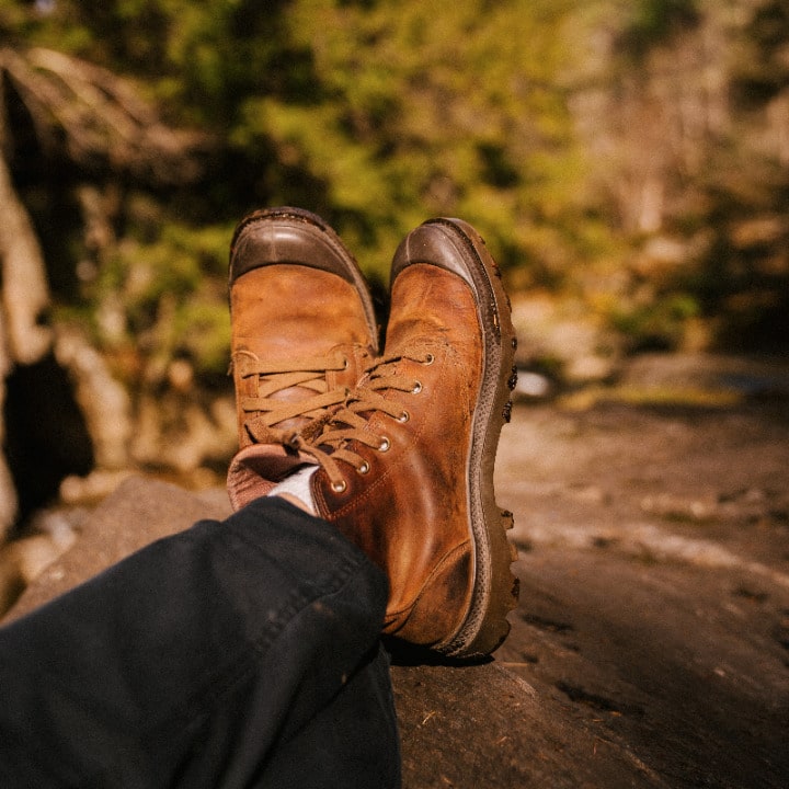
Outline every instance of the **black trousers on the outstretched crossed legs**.
[(0, 629), (0, 787), (398, 787), (384, 574), (281, 499)]

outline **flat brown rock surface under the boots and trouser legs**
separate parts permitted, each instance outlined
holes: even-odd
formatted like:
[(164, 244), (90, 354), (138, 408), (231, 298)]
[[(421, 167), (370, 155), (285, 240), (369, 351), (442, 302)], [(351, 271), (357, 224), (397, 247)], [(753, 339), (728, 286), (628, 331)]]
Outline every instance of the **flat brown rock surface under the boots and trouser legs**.
[[(516, 408), (521, 605), (493, 662), (392, 667), (407, 789), (789, 786), (788, 468), (781, 402)], [(11, 616), (227, 511), (133, 479)]]

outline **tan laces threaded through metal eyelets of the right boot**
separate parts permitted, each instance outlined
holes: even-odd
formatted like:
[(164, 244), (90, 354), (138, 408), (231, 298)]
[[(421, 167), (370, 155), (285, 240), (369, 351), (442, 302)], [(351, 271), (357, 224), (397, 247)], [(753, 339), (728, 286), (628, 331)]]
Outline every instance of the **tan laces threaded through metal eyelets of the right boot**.
[(388, 451), (391, 442), (382, 433), (369, 430), (369, 420), (377, 412), (385, 413), (400, 423), (408, 422), (411, 414), (402, 399), (388, 399), (386, 392), (400, 391), (418, 395), (422, 391), (419, 379), (398, 370), (399, 363), (412, 361), (423, 365), (433, 364), (434, 356), (426, 351), (391, 354), (377, 359), (368, 369), (359, 386), (350, 391), (345, 403), (333, 413), (322, 432), (313, 438), (302, 433), (291, 433), (286, 443), (294, 449), (311, 456), (325, 469), (332, 490), (342, 493), (347, 487), (340, 465), (347, 464), (358, 473), (367, 473), (369, 464), (350, 447), (350, 442)]

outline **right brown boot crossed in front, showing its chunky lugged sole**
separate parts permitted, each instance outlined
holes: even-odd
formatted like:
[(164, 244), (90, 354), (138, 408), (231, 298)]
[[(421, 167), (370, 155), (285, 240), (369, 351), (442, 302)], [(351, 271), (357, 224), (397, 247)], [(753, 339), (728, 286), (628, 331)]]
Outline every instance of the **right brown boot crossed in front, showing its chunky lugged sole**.
[(384, 357), (321, 436), (319, 514), (386, 570), (385, 632), (448, 655), (492, 652), (517, 601), (512, 515), (493, 464), (515, 385), (515, 333), (477, 232), (435, 219), (395, 255)]

